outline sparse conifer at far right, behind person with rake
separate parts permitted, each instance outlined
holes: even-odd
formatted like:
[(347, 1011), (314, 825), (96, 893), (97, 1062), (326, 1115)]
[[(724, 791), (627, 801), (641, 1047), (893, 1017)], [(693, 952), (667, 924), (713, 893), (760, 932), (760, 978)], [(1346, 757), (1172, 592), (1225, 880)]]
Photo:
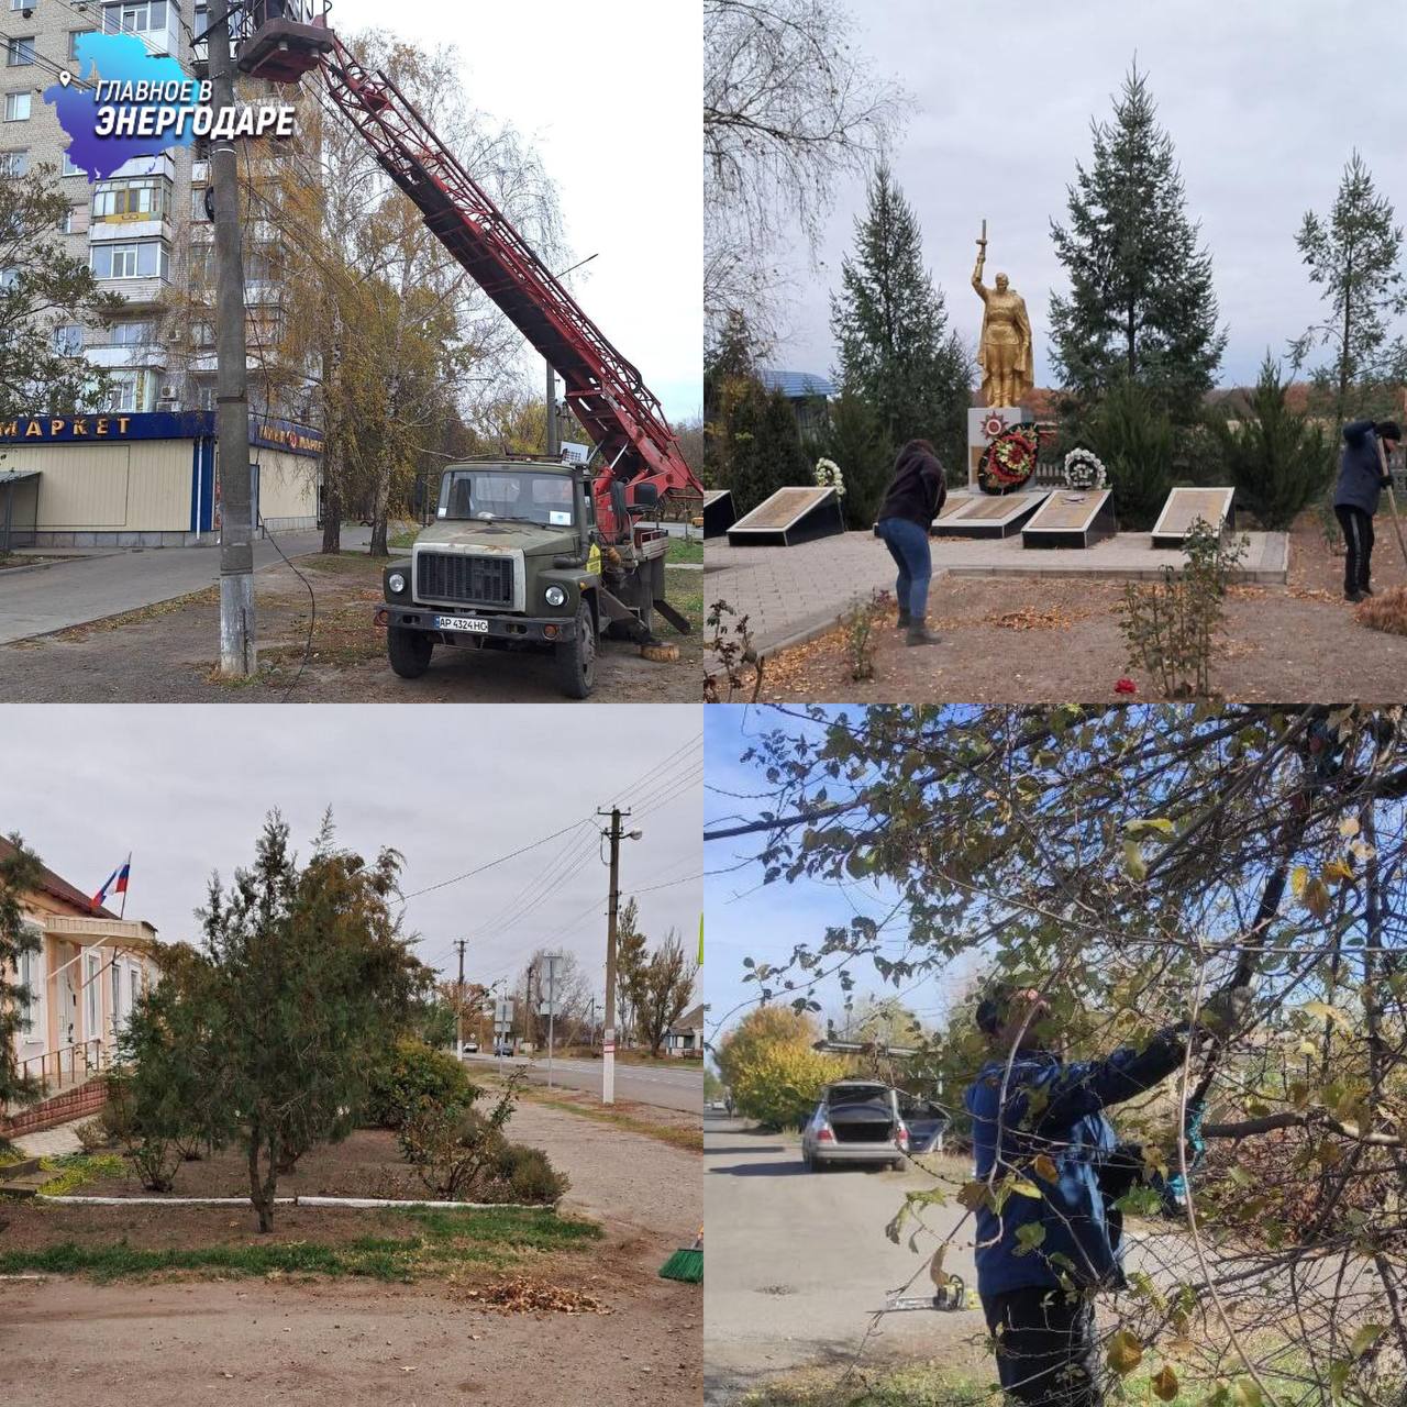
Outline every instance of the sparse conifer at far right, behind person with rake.
[(1324, 321), (1292, 343), (1293, 364), (1300, 367), (1316, 346), (1331, 350), (1311, 378), (1316, 400), (1332, 407), (1337, 425), (1361, 414), (1400, 411), (1392, 384), (1401, 376), (1407, 349), (1401, 338), (1389, 342), (1387, 326), (1407, 312), (1403, 231), (1358, 152), (1344, 167), (1334, 208), (1325, 218), (1309, 211), (1294, 242), (1310, 283), (1323, 290), (1325, 310)]

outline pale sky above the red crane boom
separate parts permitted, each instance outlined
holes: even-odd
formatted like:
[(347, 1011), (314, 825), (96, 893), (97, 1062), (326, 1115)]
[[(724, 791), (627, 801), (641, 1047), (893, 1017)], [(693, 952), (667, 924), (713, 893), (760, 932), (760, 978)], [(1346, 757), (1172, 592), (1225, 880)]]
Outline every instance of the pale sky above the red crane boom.
[(476, 107), (528, 136), (557, 183), (587, 315), (671, 421), (702, 414), (704, 18), (695, 0), (335, 0), (335, 28), (459, 49)]

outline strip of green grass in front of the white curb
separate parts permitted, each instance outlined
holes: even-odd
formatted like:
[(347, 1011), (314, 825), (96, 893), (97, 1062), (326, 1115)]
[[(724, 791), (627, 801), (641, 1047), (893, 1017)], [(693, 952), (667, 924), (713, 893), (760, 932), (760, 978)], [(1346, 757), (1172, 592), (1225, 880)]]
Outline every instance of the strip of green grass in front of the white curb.
[(84, 1275), (121, 1280), (170, 1272), (217, 1275), (324, 1275), (374, 1280), (443, 1276), (470, 1265), (505, 1266), (522, 1252), (581, 1251), (602, 1237), (601, 1227), (552, 1210), (438, 1211), (387, 1209), (390, 1230), (340, 1245), (267, 1241), (255, 1245), (203, 1245), (146, 1251), (128, 1245), (83, 1247), (73, 1241), (39, 1251), (0, 1252), (0, 1275)]

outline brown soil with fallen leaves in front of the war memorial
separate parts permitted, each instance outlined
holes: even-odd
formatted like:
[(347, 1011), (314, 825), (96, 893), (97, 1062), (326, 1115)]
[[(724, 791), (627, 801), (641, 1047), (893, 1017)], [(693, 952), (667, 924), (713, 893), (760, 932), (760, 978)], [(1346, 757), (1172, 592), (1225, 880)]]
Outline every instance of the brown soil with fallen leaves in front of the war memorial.
[[(1307, 514), (1290, 536), (1287, 587), (1234, 587), (1227, 637), (1211, 687), (1227, 699), (1314, 698), (1389, 704), (1407, 684), (1407, 637), (1361, 625), (1344, 601), (1344, 559), (1330, 552)], [(1373, 585), (1407, 584), (1392, 526), (1373, 552)], [(832, 630), (765, 661), (760, 698), (770, 702), (1104, 702), (1133, 678), (1142, 698), (1157, 687), (1130, 670), (1116, 606), (1120, 582), (940, 577), (929, 597), (941, 644), (909, 649), (886, 623), (875, 632), (875, 677), (855, 682), (846, 632)], [(734, 702), (750, 696), (751, 689)]]

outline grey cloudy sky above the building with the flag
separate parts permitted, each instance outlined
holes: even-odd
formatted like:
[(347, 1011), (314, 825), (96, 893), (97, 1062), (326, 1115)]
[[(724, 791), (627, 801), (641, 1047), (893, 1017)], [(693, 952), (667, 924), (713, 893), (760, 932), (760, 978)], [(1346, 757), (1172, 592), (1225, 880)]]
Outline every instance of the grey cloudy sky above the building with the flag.
[[(651, 941), (673, 926), (695, 951), (695, 709), (8, 705), (3, 736), (0, 832), (18, 830), (90, 893), (132, 851), (127, 916), (153, 923), (166, 941), (197, 936), (191, 913), (210, 872), (228, 882), (252, 860), (274, 806), (303, 854), (326, 806), (345, 846), (402, 851), (401, 889), (411, 895), (619, 802), (643, 832), (622, 846), (622, 892), (640, 891)], [(516, 975), (547, 944), (575, 953), (599, 992), (609, 886), (599, 855), (595, 826), (582, 826), (409, 899), (405, 926), (422, 936), (419, 955), (446, 971), (452, 943), (469, 938), (470, 981)], [(509, 922), (518, 910), (526, 912)]]

